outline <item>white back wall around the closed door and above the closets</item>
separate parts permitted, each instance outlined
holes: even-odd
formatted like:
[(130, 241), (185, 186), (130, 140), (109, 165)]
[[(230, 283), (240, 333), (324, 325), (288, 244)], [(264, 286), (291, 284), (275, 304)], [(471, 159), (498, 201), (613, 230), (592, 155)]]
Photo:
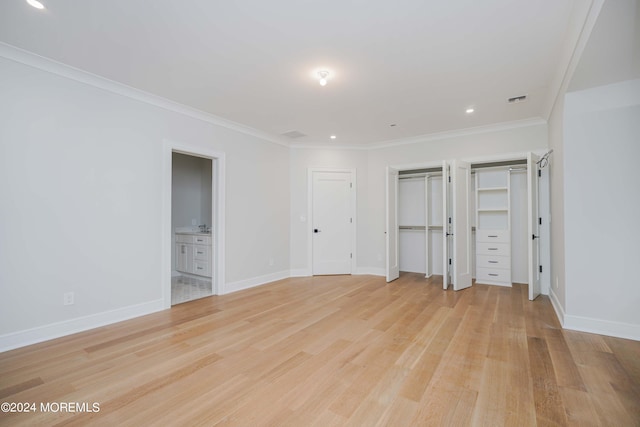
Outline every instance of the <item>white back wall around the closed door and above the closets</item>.
[(291, 150), (291, 269), (295, 275), (309, 274), (307, 226), (301, 221), (307, 211), (307, 168), (357, 169), (358, 242), (360, 273), (384, 275), (385, 269), (385, 187), (386, 166), (438, 163), (453, 158), (480, 158), (524, 153), (547, 148), (546, 124), (536, 122), (520, 127), (457, 136), (425, 138), (411, 144), (370, 150), (303, 148)]

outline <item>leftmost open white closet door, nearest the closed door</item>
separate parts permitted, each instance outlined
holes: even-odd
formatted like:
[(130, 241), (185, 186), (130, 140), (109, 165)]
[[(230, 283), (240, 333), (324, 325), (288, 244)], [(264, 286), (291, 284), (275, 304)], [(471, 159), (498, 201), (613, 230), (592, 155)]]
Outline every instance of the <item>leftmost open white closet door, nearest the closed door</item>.
[(398, 170), (387, 167), (385, 179), (386, 194), (386, 246), (387, 282), (400, 277), (400, 257), (398, 254)]

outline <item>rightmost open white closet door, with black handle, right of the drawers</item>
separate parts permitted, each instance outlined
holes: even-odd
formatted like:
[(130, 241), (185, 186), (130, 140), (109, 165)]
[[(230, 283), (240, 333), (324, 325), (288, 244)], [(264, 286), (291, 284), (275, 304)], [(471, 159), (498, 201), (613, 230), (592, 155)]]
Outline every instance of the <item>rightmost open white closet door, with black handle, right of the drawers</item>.
[(540, 295), (540, 229), (538, 223), (538, 161), (533, 153), (527, 155), (527, 196), (529, 198), (529, 299)]

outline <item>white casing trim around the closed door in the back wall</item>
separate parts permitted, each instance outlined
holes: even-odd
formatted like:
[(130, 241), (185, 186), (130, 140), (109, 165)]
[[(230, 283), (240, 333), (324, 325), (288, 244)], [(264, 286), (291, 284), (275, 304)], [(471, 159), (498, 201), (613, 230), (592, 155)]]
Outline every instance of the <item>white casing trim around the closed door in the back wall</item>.
[(351, 273), (356, 271), (356, 259), (357, 259), (357, 230), (358, 230), (358, 183), (356, 169), (340, 169), (340, 168), (320, 168), (312, 167), (307, 168), (307, 268), (310, 271), (310, 276), (313, 276), (313, 174), (315, 172), (336, 172), (336, 173), (349, 173), (351, 174), (351, 184), (353, 192), (351, 193), (351, 215), (353, 215), (353, 226), (351, 228)]

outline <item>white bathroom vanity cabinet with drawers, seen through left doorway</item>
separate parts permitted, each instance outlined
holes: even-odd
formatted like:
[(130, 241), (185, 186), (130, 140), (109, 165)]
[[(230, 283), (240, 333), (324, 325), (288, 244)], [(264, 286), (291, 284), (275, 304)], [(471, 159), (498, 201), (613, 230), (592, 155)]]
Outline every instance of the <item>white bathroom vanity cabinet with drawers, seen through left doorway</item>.
[(176, 233), (176, 271), (211, 277), (211, 236)]

